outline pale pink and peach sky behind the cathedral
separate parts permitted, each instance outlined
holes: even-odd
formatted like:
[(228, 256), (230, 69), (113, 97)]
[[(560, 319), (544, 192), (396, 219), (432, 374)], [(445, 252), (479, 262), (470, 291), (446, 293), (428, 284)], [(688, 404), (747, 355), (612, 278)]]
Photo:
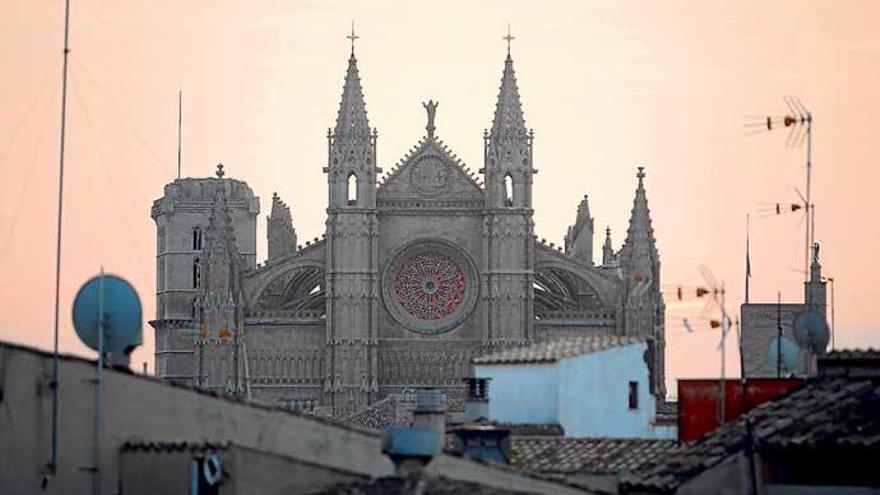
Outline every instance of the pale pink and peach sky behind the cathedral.
[[(0, 17), (0, 339), (52, 342), (63, 2), (7, 2)], [(539, 237), (561, 243), (589, 194), (597, 231), (619, 247), (643, 165), (670, 291), (709, 266), (741, 302), (745, 217), (797, 199), (805, 149), (786, 133), (745, 137), (745, 116), (798, 95), (815, 115), (816, 235), (836, 280), (838, 347), (880, 345), (880, 4), (741, 2), (289, 2), (73, 0), (65, 183), (62, 338), (77, 288), (103, 265), (154, 313), (152, 201), (176, 167), (184, 92), (184, 175), (223, 162), (263, 199), (290, 205), (302, 241), (323, 231), (324, 134), (335, 118), (357, 23), (357, 54), (386, 169), (437, 133), (479, 168), (507, 22), (526, 120), (536, 133)], [(800, 301), (799, 217), (752, 222), (754, 301)], [(596, 245), (601, 237), (597, 236)], [(717, 330), (669, 303), (668, 375), (717, 375)], [(152, 330), (134, 361), (152, 367)], [(732, 344), (732, 342), (731, 342)], [(731, 347), (733, 347), (731, 345)], [(734, 352), (728, 370), (738, 369)], [(674, 389), (673, 389), (674, 390)]]

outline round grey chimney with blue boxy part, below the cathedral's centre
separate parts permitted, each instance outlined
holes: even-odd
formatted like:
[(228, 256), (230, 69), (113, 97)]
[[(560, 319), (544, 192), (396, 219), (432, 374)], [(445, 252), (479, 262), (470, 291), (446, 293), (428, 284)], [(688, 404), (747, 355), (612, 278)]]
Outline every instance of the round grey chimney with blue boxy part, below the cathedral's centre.
[(437, 388), (416, 391), (412, 424), (382, 431), (382, 453), (398, 476), (420, 472), (442, 449), (446, 437), (446, 395)]

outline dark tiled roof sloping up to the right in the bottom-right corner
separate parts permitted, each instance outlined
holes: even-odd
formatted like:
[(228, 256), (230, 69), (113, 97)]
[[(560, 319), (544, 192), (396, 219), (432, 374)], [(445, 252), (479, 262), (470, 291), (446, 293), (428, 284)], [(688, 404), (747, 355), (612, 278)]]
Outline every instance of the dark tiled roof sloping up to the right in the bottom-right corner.
[(818, 378), (765, 402), (621, 480), (622, 493), (668, 493), (746, 447), (746, 419), (760, 449), (868, 450), (880, 454), (880, 385)]

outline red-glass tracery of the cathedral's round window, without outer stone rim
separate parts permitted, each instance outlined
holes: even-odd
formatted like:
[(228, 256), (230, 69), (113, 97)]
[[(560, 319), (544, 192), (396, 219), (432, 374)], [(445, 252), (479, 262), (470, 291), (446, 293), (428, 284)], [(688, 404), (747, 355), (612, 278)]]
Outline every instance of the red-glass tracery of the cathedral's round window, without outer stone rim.
[(418, 253), (405, 261), (394, 279), (394, 299), (420, 320), (440, 320), (464, 300), (464, 270), (449, 257)]

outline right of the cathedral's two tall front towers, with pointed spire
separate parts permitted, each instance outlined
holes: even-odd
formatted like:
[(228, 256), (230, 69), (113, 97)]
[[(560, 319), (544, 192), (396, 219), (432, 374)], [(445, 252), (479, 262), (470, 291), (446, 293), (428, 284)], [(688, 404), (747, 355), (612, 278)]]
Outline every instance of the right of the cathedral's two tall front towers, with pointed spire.
[(484, 134), (486, 213), (483, 218), (486, 340), (528, 340), (534, 322), (534, 222), (532, 220), (533, 133), (526, 130), (508, 33), (507, 59), (492, 129)]

